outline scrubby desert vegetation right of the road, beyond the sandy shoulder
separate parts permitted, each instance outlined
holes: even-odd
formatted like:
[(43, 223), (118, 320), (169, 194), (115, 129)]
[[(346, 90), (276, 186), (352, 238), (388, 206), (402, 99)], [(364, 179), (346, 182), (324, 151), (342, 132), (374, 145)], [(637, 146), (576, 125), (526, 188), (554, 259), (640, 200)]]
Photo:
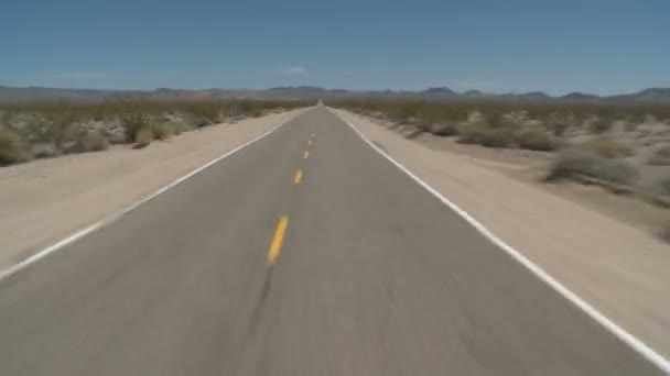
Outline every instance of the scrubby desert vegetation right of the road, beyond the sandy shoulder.
[(408, 137), (544, 153), (547, 180), (617, 192), (661, 192), (670, 178), (670, 106), (559, 101), (354, 99), (328, 103), (390, 123)]

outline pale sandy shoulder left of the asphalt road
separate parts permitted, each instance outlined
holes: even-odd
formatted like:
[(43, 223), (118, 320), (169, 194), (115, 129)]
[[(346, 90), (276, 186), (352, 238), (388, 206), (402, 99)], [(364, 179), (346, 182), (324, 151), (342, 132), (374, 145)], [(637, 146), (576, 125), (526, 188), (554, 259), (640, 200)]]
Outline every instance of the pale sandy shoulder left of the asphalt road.
[(143, 150), (0, 168), (0, 268), (100, 220), (303, 110), (182, 133)]

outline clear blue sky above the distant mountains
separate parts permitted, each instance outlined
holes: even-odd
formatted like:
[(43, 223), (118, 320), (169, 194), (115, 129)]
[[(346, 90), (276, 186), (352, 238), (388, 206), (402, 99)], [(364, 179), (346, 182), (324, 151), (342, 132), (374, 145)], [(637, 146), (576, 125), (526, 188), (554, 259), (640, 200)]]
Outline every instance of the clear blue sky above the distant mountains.
[(670, 1), (10, 0), (0, 85), (630, 92), (670, 87)]

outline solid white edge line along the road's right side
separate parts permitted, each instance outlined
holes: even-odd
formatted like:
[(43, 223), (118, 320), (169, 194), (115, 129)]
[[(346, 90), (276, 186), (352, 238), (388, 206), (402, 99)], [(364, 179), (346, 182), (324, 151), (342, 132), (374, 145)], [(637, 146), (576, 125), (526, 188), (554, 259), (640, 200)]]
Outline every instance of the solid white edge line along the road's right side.
[(502, 248), (510, 256), (512, 256), (517, 262), (528, 268), (532, 274), (534, 274), (538, 278), (547, 283), (551, 286), (556, 292), (562, 295), (565, 299), (570, 300), (576, 307), (582, 309), (586, 314), (588, 314), (592, 319), (597, 321), (601, 325), (605, 327), (610, 333), (616, 335), (619, 340), (625, 342), (628, 346), (630, 346), (638, 354), (642, 355), (646, 360), (651, 362), (658, 368), (660, 368), (663, 373), (670, 374), (670, 362), (664, 358), (662, 355), (657, 353), (653, 349), (648, 346), (646, 343), (637, 339), (635, 335), (628, 333), (624, 328), (616, 324), (614, 321), (608, 319), (605, 314), (601, 313), (593, 306), (587, 303), (584, 299), (580, 298), (576, 294), (572, 292), (565, 286), (563, 286), (560, 281), (550, 276), (547, 272), (544, 272), (538, 264), (534, 264), (529, 258), (523, 256), (519, 251), (515, 250), (498, 236), (496, 236), (493, 232), (490, 232), (484, 224), (474, 219), (471, 214), (468, 214), (465, 210), (461, 209), (457, 204), (450, 201), (446, 197), (442, 196), (437, 190), (431, 187), (428, 183), (423, 181), (420, 177), (410, 172), (407, 167), (401, 165), (399, 162), (393, 159), (390, 155), (388, 155), (385, 151), (375, 145), (370, 140), (368, 140), (354, 124), (352, 124), (348, 120), (343, 119), (341, 115), (336, 114), (331, 110), (331, 113), (335, 114), (339, 119), (342, 119), (347, 125), (349, 125), (356, 134), (363, 141), (365, 141), (370, 147), (372, 147), (377, 153), (381, 154), (385, 158), (387, 158), (390, 163), (396, 165), (396, 167), (400, 168), (404, 174), (407, 174), (412, 180), (423, 187), (425, 190), (431, 192), (433, 196), (439, 198), (444, 204), (450, 207), (453, 211), (455, 211), (458, 215), (465, 219), (471, 225), (473, 225), (482, 235), (493, 242), (495, 245)]

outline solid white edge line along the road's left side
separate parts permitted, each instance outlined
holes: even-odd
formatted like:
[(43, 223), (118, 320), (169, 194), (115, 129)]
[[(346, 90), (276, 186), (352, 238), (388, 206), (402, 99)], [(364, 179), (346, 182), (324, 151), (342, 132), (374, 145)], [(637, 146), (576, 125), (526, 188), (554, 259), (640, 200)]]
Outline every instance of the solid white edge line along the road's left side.
[(54, 253), (55, 251), (58, 251), (62, 247), (64, 247), (64, 246), (66, 246), (68, 244), (72, 244), (72, 243), (76, 242), (77, 240), (79, 240), (79, 239), (88, 235), (89, 233), (91, 233), (91, 232), (94, 232), (96, 230), (99, 230), (100, 228), (102, 228), (102, 226), (105, 226), (105, 225), (107, 225), (107, 224), (109, 224), (109, 223), (111, 223), (111, 222), (120, 219), (121, 217), (123, 217), (123, 215), (128, 214), (129, 212), (133, 211), (134, 209), (137, 209), (141, 204), (151, 201), (152, 199), (154, 199), (158, 196), (164, 193), (165, 191), (170, 190), (171, 188), (174, 188), (175, 186), (177, 186), (179, 184), (183, 183), (184, 180), (186, 180), (186, 179), (193, 177), (194, 175), (201, 173), (205, 168), (207, 168), (207, 167), (216, 164), (217, 162), (219, 162), (219, 161), (221, 161), (221, 159), (224, 159), (224, 158), (226, 158), (226, 157), (228, 157), (228, 156), (230, 156), (230, 155), (239, 152), (240, 150), (242, 150), (242, 148), (245, 148), (245, 147), (253, 144), (255, 142), (257, 142), (257, 141), (263, 139), (263, 137), (266, 137), (267, 135), (269, 135), (270, 133), (277, 131), (278, 129), (280, 129), (284, 124), (289, 123), (293, 119), (294, 119), (294, 117), (291, 118), (291, 119), (289, 119), (289, 120), (287, 120), (287, 121), (284, 121), (283, 123), (281, 123), (279, 125), (275, 125), (274, 128), (272, 128), (269, 131), (262, 133), (261, 135), (257, 136), (256, 139), (253, 139), (251, 141), (248, 141), (245, 144), (242, 144), (240, 146), (237, 146), (234, 150), (231, 150), (231, 151), (229, 151), (229, 152), (227, 152), (227, 153), (225, 153), (225, 154), (216, 157), (214, 161), (208, 162), (204, 166), (201, 166), (201, 167), (192, 170), (191, 173), (188, 173), (188, 174), (186, 174), (186, 175), (184, 175), (184, 176), (182, 176), (180, 178), (176, 178), (175, 180), (171, 181), (170, 184), (168, 184), (166, 186), (160, 188), (159, 190), (154, 191), (153, 193), (150, 193), (149, 196), (147, 196), (147, 197), (140, 199), (139, 201), (130, 204), (126, 209), (121, 209), (120, 211), (112, 212), (111, 214), (108, 214), (104, 219), (101, 219), (101, 220), (99, 220), (99, 221), (97, 221), (97, 222), (95, 222), (93, 224), (89, 224), (89, 225), (87, 225), (87, 226), (85, 226), (83, 229), (79, 229), (79, 230), (73, 232), (72, 234), (67, 235), (63, 240), (61, 240), (61, 241), (58, 241), (58, 242), (56, 242), (56, 243), (54, 243), (54, 244), (52, 244), (52, 245), (50, 245), (50, 246), (47, 246), (45, 248), (42, 248), (42, 250), (37, 251), (33, 255), (31, 255), (31, 256), (29, 256), (29, 257), (20, 261), (19, 263), (17, 263), (17, 264), (14, 264), (14, 265), (12, 265), (12, 266), (3, 269), (3, 270), (0, 270), (0, 280), (3, 280), (6, 278), (14, 275), (17, 272), (19, 272), (19, 270), (21, 270), (21, 269), (30, 266), (31, 264), (33, 264), (33, 263), (35, 263), (35, 262), (37, 262), (37, 261), (40, 261), (40, 259), (48, 256), (50, 254)]

